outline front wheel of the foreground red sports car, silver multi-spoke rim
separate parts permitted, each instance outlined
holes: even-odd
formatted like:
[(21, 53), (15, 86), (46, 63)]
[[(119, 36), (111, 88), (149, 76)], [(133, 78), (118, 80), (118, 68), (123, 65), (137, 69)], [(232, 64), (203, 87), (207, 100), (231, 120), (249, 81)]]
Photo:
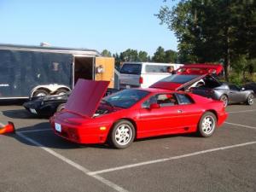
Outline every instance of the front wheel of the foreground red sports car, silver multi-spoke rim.
[(133, 142), (134, 137), (134, 125), (128, 120), (119, 120), (113, 125), (113, 129), (109, 132), (108, 143), (113, 148), (127, 148)]

